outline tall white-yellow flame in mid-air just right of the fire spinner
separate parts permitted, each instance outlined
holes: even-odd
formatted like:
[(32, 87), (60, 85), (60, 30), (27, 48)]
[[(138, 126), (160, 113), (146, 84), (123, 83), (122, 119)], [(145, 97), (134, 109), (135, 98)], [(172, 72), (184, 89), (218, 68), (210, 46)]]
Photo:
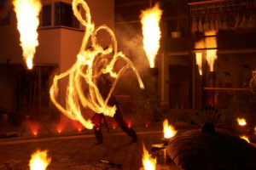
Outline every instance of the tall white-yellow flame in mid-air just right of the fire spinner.
[(162, 10), (159, 4), (156, 3), (153, 8), (148, 8), (142, 11), (140, 15), (143, 25), (143, 48), (147, 54), (149, 65), (154, 67), (154, 58), (160, 48), (160, 18)]

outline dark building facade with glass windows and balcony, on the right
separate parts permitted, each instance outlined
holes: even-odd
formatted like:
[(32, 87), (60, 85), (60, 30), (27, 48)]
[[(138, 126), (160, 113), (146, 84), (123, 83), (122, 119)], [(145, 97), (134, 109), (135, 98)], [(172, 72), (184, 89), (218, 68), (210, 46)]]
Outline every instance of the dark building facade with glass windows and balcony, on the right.
[[(199, 109), (207, 105), (225, 108), (233, 94), (249, 91), (248, 83), (256, 69), (255, 1), (241, 0), (148, 0), (116, 1), (115, 28), (132, 38), (122, 44), (134, 58), (145, 58), (142, 44), (140, 11), (160, 3), (161, 43), (156, 64), (160, 103), (169, 109)], [(137, 31), (136, 31), (137, 30)], [(217, 47), (196, 48), (214, 30)], [(126, 33), (127, 34), (127, 33)], [(119, 34), (119, 39), (125, 35)], [(122, 41), (119, 41), (122, 42)], [(206, 42), (206, 40), (204, 40)], [(125, 44), (136, 44), (133, 47)], [(207, 50), (217, 50), (213, 70), (209, 69)], [(202, 75), (196, 64), (201, 54)], [(143, 65), (143, 69), (148, 65)]]

